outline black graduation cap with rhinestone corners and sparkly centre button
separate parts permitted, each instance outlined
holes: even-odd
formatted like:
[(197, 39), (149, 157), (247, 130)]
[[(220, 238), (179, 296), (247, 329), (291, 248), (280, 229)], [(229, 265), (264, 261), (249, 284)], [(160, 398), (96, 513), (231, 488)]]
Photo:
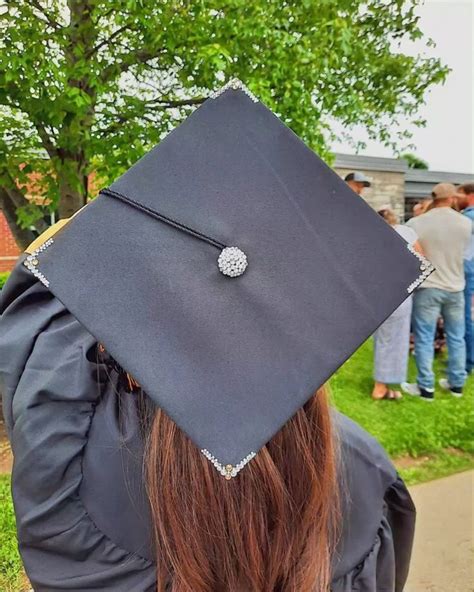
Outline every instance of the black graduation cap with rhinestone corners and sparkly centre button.
[(239, 81), (25, 265), (227, 478), (432, 270)]

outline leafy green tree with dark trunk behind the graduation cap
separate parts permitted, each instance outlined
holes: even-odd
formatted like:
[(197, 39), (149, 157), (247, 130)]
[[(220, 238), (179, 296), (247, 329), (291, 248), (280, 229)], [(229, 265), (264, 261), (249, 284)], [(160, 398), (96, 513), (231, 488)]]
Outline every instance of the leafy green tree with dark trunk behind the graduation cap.
[[(329, 121), (392, 141), (447, 70), (400, 51), (418, 0), (7, 0), (0, 207), (19, 245), (71, 215), (238, 77), (311, 147)], [(34, 175), (36, 200), (28, 201)], [(41, 199), (38, 200), (38, 196)]]

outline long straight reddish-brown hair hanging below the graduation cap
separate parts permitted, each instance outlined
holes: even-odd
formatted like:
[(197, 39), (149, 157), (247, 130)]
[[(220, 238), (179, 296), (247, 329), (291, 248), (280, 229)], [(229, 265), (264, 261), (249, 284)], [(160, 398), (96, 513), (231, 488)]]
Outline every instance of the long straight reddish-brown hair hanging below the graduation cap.
[(322, 592), (338, 525), (335, 439), (320, 389), (230, 481), (161, 410), (145, 471), (157, 592)]

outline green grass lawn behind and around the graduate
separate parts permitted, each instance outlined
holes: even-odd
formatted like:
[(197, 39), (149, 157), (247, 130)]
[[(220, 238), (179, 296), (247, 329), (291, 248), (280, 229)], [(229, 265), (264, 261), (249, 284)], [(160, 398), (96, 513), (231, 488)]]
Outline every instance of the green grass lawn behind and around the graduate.
[[(444, 361), (436, 361), (443, 376)], [(410, 379), (415, 378), (410, 360)], [(427, 481), (474, 466), (474, 378), (462, 399), (436, 391), (434, 403), (405, 396), (372, 401), (372, 341), (365, 343), (331, 379), (336, 407), (360, 423), (386, 448), (408, 483)], [(10, 477), (0, 476), (0, 590), (28, 590), (16, 549)]]

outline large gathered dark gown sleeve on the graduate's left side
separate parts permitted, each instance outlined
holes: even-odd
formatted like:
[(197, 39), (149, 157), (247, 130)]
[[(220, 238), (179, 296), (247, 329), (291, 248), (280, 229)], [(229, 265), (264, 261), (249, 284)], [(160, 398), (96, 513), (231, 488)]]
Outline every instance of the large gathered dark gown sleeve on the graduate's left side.
[(0, 391), (20, 553), (36, 592), (151, 592), (156, 566), (117, 545), (80, 496), (104, 383), (96, 341), (19, 264), (1, 294)]

